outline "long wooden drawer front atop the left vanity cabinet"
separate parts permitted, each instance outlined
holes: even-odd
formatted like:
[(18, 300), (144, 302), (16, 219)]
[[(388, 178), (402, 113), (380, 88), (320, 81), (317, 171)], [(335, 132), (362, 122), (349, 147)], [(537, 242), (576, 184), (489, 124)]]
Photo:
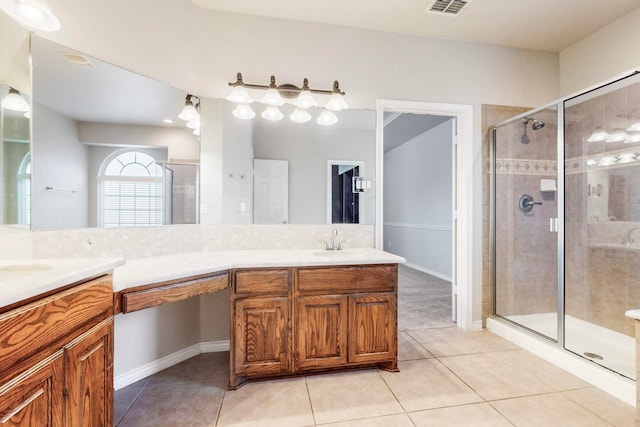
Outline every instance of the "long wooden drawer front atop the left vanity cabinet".
[(111, 276), (105, 276), (0, 314), (0, 367), (80, 333), (91, 319), (98, 323), (111, 314), (112, 304)]

